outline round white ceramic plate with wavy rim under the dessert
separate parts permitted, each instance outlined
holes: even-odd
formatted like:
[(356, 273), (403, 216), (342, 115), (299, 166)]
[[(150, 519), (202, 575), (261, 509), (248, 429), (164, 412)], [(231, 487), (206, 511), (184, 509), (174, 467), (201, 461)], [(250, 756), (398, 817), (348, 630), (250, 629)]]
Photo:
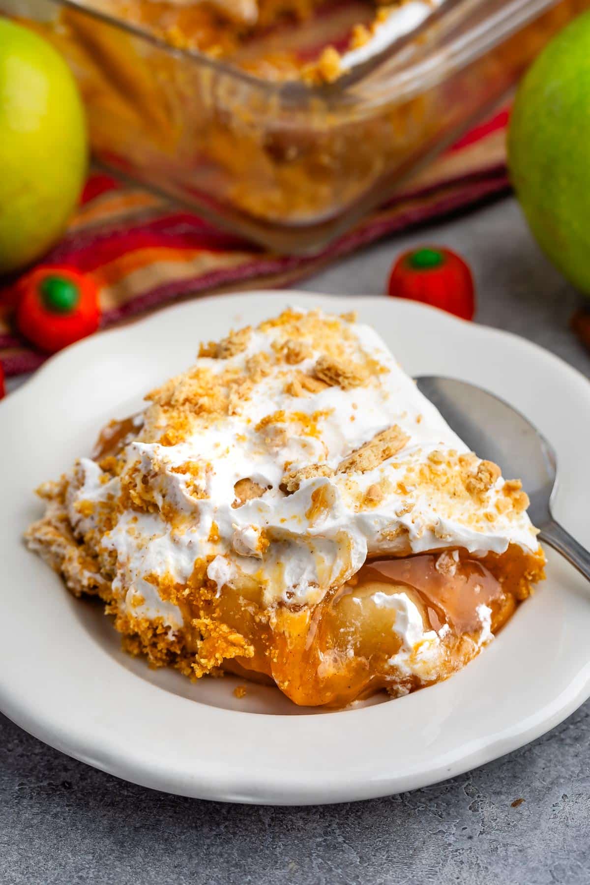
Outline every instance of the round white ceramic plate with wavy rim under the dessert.
[(554, 443), (556, 515), (590, 544), (590, 384), (514, 335), (385, 297), (248, 293), (182, 304), (50, 360), (0, 404), (0, 709), (89, 765), (155, 789), (233, 802), (307, 804), (425, 786), (514, 750), (590, 695), (590, 588), (550, 555), (548, 580), (492, 645), (447, 682), (343, 712), (295, 707), (278, 689), (190, 683), (119, 650), (99, 606), (73, 599), (21, 536), (32, 489), (57, 477), (111, 417), (188, 366), (198, 342), (287, 304), (356, 308), (413, 374), (474, 381)]

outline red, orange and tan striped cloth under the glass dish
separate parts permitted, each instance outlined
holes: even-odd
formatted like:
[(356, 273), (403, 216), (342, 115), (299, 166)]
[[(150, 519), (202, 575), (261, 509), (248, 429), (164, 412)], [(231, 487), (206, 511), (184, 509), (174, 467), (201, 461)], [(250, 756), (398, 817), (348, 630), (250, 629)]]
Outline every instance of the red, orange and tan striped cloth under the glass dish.
[[(473, 129), (379, 211), (314, 257), (264, 251), (161, 197), (94, 173), (64, 238), (42, 264), (94, 275), (103, 326), (181, 297), (285, 287), (381, 237), (505, 192), (507, 122), (508, 112), (502, 111)], [(11, 285), (5, 283), (0, 290), (0, 361), (7, 375), (30, 372), (45, 358), (22, 339), (12, 314)]]

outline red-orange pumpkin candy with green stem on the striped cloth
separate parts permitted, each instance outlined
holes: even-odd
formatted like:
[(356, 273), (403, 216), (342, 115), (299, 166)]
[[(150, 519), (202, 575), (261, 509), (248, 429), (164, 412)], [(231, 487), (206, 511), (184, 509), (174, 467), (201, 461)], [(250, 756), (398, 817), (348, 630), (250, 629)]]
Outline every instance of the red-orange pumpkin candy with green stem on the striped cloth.
[(55, 353), (96, 332), (96, 283), (72, 267), (43, 266), (17, 283), (17, 325), (29, 341)]

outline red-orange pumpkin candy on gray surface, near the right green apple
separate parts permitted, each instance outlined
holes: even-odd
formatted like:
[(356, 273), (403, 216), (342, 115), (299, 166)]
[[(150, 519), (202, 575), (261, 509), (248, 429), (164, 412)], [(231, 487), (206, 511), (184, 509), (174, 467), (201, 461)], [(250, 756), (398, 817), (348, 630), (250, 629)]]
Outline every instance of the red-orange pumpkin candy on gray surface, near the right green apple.
[(404, 252), (389, 276), (389, 295), (431, 304), (461, 319), (473, 319), (475, 286), (471, 269), (450, 249)]

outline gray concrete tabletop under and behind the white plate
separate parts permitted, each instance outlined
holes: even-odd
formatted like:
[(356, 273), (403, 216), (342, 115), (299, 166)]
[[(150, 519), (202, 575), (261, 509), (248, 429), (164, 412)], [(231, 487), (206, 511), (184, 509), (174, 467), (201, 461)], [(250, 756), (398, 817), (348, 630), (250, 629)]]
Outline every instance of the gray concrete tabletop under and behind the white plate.
[[(510, 199), (383, 242), (305, 288), (380, 293), (397, 252), (418, 242), (468, 258), (480, 322), (525, 335), (590, 377), (590, 356), (568, 327), (581, 299), (542, 258)], [(586, 883), (589, 743), (590, 702), (528, 747), (429, 789), (254, 808), (118, 781), (0, 717), (0, 882)]]

